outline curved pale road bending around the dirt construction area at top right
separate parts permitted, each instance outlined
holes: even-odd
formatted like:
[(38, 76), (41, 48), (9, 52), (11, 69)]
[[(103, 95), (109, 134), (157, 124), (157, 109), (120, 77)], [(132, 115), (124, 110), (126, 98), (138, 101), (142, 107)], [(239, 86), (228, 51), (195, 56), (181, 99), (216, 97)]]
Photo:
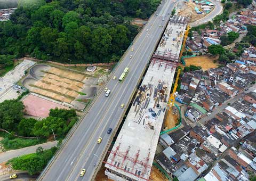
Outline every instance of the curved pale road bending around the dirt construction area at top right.
[(199, 26), (200, 24), (211, 21), (215, 16), (221, 14), (222, 9), (223, 9), (221, 3), (219, 1), (215, 1), (215, 0), (210, 1), (210, 2), (212, 2), (214, 4), (214, 6), (215, 6), (214, 10), (212, 12), (210, 12), (209, 14), (207, 14), (206, 17), (204, 17), (200, 20), (197, 20), (195, 22), (189, 23), (189, 25), (191, 27), (196, 27), (196, 26)]

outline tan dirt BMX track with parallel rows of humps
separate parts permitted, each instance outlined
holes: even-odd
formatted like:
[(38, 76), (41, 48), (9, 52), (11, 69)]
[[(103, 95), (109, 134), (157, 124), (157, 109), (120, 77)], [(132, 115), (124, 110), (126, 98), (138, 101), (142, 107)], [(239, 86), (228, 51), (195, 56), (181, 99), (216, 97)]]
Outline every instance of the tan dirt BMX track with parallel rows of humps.
[(81, 73), (54, 67), (46, 69), (43, 64), (36, 65), (32, 70), (30, 75), (35, 79), (27, 78), (23, 80), (23, 85), (29, 88), (31, 92), (61, 102), (71, 103), (74, 101), (79, 96), (79, 92), (82, 92), (84, 83), (87, 81), (86, 76)]

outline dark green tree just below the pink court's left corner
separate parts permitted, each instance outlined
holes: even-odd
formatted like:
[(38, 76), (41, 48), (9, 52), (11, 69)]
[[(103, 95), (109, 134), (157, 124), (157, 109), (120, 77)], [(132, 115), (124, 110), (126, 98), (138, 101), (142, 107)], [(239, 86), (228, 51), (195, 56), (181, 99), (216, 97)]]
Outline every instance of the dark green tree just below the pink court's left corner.
[(36, 119), (28, 118), (28, 119), (22, 119), (19, 122), (18, 125), (18, 133), (21, 136), (27, 136), (27, 137), (33, 137), (35, 136), (33, 134), (33, 129), (35, 126), (35, 123), (37, 122)]

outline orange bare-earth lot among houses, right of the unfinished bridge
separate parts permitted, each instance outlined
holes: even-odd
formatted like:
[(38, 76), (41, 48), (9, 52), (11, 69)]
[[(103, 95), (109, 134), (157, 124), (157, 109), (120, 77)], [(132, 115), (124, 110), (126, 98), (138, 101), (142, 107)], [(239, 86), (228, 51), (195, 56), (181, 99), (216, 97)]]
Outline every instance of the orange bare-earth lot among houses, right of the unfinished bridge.
[(202, 67), (203, 70), (208, 70), (209, 68), (218, 68), (218, 63), (214, 63), (213, 60), (217, 60), (217, 56), (195, 56), (184, 59), (186, 66), (196, 65)]

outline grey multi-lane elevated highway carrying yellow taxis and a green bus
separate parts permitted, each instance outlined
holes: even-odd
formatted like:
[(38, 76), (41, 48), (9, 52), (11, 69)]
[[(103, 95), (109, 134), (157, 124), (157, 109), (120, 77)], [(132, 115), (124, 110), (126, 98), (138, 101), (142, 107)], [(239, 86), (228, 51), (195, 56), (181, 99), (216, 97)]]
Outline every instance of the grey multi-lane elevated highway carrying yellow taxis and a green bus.
[[(61, 148), (61, 151), (50, 163), (50, 167), (46, 168), (38, 180), (87, 181), (95, 177), (127, 105), (162, 36), (174, 3), (174, 1), (163, 1), (159, 5), (106, 83), (105, 87), (111, 90), (109, 97), (105, 97), (103, 91), (95, 97), (94, 103), (79, 122), (73, 135), (68, 138), (68, 142)], [(131, 51), (132, 48), (134, 51)], [(130, 59), (130, 55), (132, 55), (132, 59)], [(118, 78), (125, 67), (129, 67), (129, 73), (123, 83), (118, 83)], [(113, 80), (113, 76), (116, 76), (117, 79)], [(125, 104), (123, 109), (120, 108), (122, 103)], [(111, 134), (107, 134), (110, 127), (113, 128), (113, 131)], [(97, 143), (99, 137), (102, 137), (100, 144)], [(82, 168), (86, 169), (84, 177), (79, 176)]]

